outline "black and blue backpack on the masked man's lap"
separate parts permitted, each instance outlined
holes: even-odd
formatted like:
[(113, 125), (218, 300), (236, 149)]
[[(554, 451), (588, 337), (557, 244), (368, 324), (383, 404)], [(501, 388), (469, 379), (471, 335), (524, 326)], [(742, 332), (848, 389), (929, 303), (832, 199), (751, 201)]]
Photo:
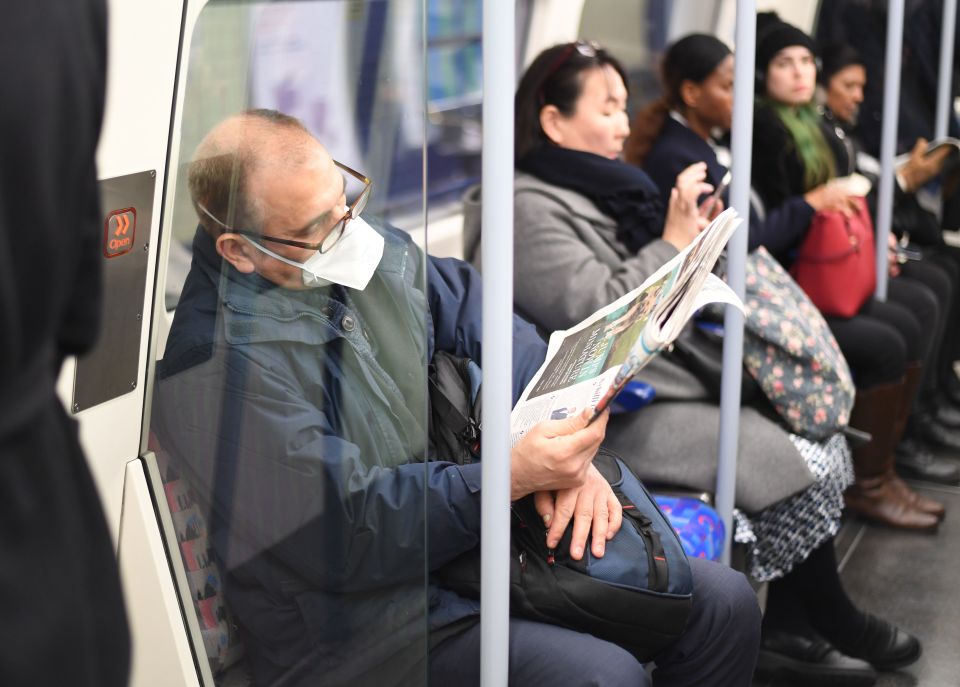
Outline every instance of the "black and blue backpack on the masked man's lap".
[[(473, 460), (478, 455), (472, 448), (479, 448), (480, 418), (462, 401), (479, 398), (476, 377), (469, 374), (473, 363), (443, 357), (453, 360), (440, 362), (435, 356), (439, 364), (431, 365), (430, 371), (431, 440), (434, 446), (455, 443), (461, 436), (472, 436), (465, 428), (475, 426), (475, 441), (460, 446), (461, 455)], [(439, 370), (444, 372), (437, 374)], [(438, 395), (446, 398), (440, 401), (442, 410), (436, 407)], [(457, 412), (451, 413), (451, 408)], [(445, 417), (453, 417), (453, 425), (445, 425)], [(583, 559), (576, 561), (569, 555), (571, 528), (556, 549), (548, 549), (546, 527), (532, 495), (514, 502), (510, 614), (587, 632), (649, 661), (686, 626), (693, 598), (690, 565), (672, 525), (627, 466), (605, 448), (594, 465), (623, 506), (623, 526), (607, 542), (603, 558), (594, 558), (588, 543)], [(451, 561), (436, 575), (447, 589), (479, 599), (480, 548)]]

